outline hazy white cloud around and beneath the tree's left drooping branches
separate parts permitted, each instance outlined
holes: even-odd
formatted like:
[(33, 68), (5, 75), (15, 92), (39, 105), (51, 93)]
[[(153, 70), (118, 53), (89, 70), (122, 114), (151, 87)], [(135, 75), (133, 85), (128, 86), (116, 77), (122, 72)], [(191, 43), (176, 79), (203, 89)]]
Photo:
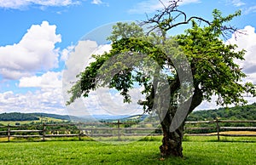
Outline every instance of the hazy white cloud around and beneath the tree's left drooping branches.
[[(73, 83), (77, 81), (76, 75), (83, 71), (86, 65), (93, 61), (91, 54), (103, 54), (111, 49), (110, 44), (99, 45), (94, 41), (79, 41), (73, 51), (68, 54), (66, 69), (63, 74), (63, 95), (64, 100), (69, 100), (67, 94)], [(98, 88), (92, 91), (88, 98), (75, 100), (67, 106), (70, 115), (90, 116), (95, 114), (108, 115), (131, 115), (142, 113), (137, 105), (137, 100), (142, 99), (139, 88), (133, 88), (130, 92), (132, 104), (123, 104), (123, 97), (113, 89)]]

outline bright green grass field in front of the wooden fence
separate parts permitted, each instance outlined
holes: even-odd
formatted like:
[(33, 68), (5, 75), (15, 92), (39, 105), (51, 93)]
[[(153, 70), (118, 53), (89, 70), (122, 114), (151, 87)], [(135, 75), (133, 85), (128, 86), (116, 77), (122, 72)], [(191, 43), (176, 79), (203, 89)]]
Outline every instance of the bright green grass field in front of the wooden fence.
[[(213, 138), (213, 139), (212, 139)], [(256, 164), (255, 138), (187, 137), (183, 158), (160, 159), (160, 138), (126, 145), (97, 141), (2, 142), (0, 164)]]

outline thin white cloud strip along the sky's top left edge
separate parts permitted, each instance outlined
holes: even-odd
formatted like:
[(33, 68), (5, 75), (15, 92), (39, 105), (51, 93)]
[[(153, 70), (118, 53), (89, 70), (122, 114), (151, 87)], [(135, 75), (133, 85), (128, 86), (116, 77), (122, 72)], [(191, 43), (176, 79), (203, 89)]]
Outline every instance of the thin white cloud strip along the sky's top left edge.
[(68, 6), (78, 4), (74, 0), (0, 0), (0, 8), (22, 9), (30, 5), (47, 6)]

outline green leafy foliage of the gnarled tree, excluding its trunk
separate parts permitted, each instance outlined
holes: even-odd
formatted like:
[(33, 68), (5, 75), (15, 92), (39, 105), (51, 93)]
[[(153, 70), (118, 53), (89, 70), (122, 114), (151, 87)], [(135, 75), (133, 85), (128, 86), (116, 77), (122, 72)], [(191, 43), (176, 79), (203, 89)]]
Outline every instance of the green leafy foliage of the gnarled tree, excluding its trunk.
[[(149, 36), (142, 36), (142, 29), (139, 26), (118, 23), (113, 27), (113, 35), (109, 37), (113, 42), (112, 50), (102, 55), (93, 55), (95, 61), (91, 62), (78, 75), (79, 81), (70, 89), (69, 93), (72, 94), (72, 97), (67, 105), (82, 95), (88, 97), (90, 91), (101, 86), (117, 89), (124, 96), (124, 101), (129, 103), (131, 96), (128, 92), (134, 84), (138, 83), (144, 88), (142, 94), (146, 95), (147, 101), (143, 102), (145, 111), (153, 111), (152, 101), (154, 98), (151, 96), (157, 87), (154, 83), (156, 75), (160, 75), (169, 83), (171, 106), (177, 106), (182, 103), (180, 99), (185, 97), (181, 95), (182, 82), (179, 78), (182, 75), (179, 75), (177, 71), (185, 67), (180, 61), (183, 60), (180, 59), (182, 54), (180, 49), (189, 61), (189, 68), (193, 76), (192, 84), (189, 84), (188, 88), (193, 88), (193, 97), (195, 96), (195, 98), (192, 100), (189, 112), (200, 105), (202, 100), (211, 100), (212, 94), (218, 96), (218, 105), (247, 103), (242, 94), (255, 94), (255, 90), (252, 83), (241, 83), (241, 79), (246, 75), (235, 63), (235, 60), (244, 60), (245, 51), (237, 52), (235, 51), (236, 45), (226, 45), (219, 39), (226, 32), (224, 23), (240, 13), (236, 12), (236, 14), (223, 17), (218, 10), (214, 10), (212, 14), (213, 20), (209, 26), (201, 27), (192, 20), (192, 27), (185, 31), (185, 34), (175, 37), (161, 37), (153, 32)], [(124, 36), (124, 33), (127, 33), (127, 36)], [(175, 42), (178, 43), (178, 48)], [(166, 53), (172, 54), (172, 59)], [(121, 55), (118, 56), (119, 60), (113, 62), (113, 57), (116, 54)], [(148, 57), (143, 57), (142, 61), (135, 62), (132, 59), (136, 59), (137, 54), (147, 54)], [(156, 61), (160, 68), (153, 67), (149, 68), (149, 71), (143, 71), (141, 69), (143, 67), (148, 69), (148, 63), (144, 62), (148, 59)], [(109, 60), (112, 63), (109, 63)], [(126, 65), (122, 60), (131, 60), (131, 63), (134, 62), (134, 64)], [(173, 64), (174, 62), (179, 62), (179, 66)], [(166, 70), (169, 71), (168, 74), (165, 74)], [(186, 99), (188, 97), (183, 100)]]

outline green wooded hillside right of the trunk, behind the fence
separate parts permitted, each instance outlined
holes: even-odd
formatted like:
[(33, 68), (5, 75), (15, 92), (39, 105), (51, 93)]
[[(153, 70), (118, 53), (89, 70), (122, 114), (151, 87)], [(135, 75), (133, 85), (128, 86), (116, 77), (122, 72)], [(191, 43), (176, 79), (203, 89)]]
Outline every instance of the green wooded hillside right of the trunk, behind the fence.
[(256, 103), (217, 110), (194, 111), (187, 121), (212, 120), (217, 117), (221, 120), (256, 120)]

